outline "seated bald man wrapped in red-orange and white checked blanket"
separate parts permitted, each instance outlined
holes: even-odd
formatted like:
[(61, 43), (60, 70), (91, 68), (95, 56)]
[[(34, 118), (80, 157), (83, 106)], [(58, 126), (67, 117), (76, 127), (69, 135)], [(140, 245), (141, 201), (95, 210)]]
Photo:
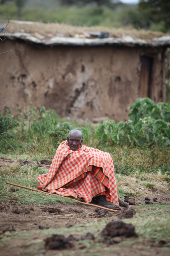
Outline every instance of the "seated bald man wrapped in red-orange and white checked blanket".
[(109, 153), (82, 145), (82, 132), (71, 130), (57, 148), (48, 174), (39, 175), (38, 189), (61, 196), (83, 198), (118, 210), (127, 203), (118, 200), (113, 160)]

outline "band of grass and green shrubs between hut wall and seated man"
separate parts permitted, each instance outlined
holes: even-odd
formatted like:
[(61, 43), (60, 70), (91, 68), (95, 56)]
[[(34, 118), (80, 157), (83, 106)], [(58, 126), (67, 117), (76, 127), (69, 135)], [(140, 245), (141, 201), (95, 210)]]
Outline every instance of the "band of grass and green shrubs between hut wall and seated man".
[(170, 106), (167, 103), (155, 105), (149, 98), (139, 98), (130, 108), (130, 120), (118, 124), (114, 120), (104, 121), (103, 124), (78, 123), (76, 120), (67, 122), (59, 119), (54, 110), (46, 110), (43, 106), (34, 107), (32, 103), (26, 114), (18, 110), (17, 121), (7, 111), (3, 118), (11, 118), (16, 125), (17, 122), (19, 124), (8, 128), (8, 132), (23, 144), (9, 134), (2, 134), (18, 156), (12, 156), (15, 152), (2, 138), (0, 154), (22, 161), (53, 159), (57, 146), (66, 140), (69, 131), (79, 129), (83, 132), (83, 144), (111, 154), (116, 173), (161, 172), (169, 175)]

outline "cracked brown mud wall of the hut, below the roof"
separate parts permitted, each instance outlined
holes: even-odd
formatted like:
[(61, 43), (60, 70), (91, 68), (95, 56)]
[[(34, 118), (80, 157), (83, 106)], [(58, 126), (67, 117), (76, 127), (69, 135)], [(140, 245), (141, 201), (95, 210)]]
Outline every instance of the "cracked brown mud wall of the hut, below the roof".
[[(16, 106), (44, 105), (60, 117), (128, 119), (138, 98), (140, 56), (152, 53), (153, 100), (162, 101), (162, 52), (114, 46), (41, 46), (1, 42), (0, 105), (15, 96)], [(148, 53), (147, 53), (148, 54)]]

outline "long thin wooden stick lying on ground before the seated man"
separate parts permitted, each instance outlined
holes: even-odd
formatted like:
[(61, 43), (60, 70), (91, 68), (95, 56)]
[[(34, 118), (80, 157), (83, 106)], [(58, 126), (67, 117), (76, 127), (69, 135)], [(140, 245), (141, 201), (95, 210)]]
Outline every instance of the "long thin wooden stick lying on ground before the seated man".
[[(48, 194), (48, 195), (56, 195), (56, 194), (51, 194), (51, 193), (48, 193), (48, 192), (44, 192), (42, 190), (24, 187), (24, 186), (21, 186), (21, 185), (10, 183), (10, 182), (6, 182), (6, 184), (9, 184), (9, 185), (12, 185), (12, 186), (16, 186), (16, 187), (20, 187), (20, 188), (25, 188), (25, 189), (33, 190), (33, 191), (40, 192), (40, 193), (45, 193), (45, 194)], [(58, 196), (61, 196), (61, 195), (58, 195)], [(71, 199), (71, 198), (66, 197), (66, 196), (62, 196), (62, 197), (65, 197), (67, 199)], [(72, 200), (74, 200), (74, 201), (76, 201), (76, 202), (78, 202), (79, 204), (82, 204), (82, 205), (93, 206), (93, 207), (97, 207), (97, 208), (100, 208), (100, 209), (103, 209), (103, 210), (107, 210), (107, 211), (110, 211), (110, 212), (117, 212), (117, 210), (109, 209), (109, 208), (106, 208), (106, 207), (103, 207), (103, 206), (88, 204), (88, 203), (85, 203), (85, 202), (78, 201), (76, 199), (72, 199)]]

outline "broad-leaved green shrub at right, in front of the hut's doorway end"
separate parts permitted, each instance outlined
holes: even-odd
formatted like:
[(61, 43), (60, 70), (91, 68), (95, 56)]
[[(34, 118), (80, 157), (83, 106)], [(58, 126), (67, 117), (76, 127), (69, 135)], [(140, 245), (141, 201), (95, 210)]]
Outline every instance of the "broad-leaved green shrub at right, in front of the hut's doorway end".
[(98, 126), (96, 136), (100, 143), (135, 144), (152, 147), (156, 144), (170, 146), (170, 106), (154, 104), (149, 98), (137, 99), (130, 107), (130, 119), (119, 122), (105, 120)]

